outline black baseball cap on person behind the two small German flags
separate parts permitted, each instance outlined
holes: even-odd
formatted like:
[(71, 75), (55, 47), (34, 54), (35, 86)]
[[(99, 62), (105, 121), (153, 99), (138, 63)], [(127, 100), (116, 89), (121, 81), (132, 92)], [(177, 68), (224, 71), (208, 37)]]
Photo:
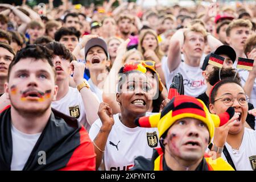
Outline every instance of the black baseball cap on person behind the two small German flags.
[[(237, 57), (236, 51), (234, 51), (234, 49), (228, 45), (222, 45), (218, 47), (214, 52), (211, 52), (211, 53), (215, 53), (216, 55), (227, 55), (232, 60), (233, 64), (234, 64), (234, 61), (236, 61), (236, 57)], [(202, 66), (203, 71), (205, 71), (207, 65), (209, 64), (208, 61), (211, 53), (205, 56), (204, 63)]]

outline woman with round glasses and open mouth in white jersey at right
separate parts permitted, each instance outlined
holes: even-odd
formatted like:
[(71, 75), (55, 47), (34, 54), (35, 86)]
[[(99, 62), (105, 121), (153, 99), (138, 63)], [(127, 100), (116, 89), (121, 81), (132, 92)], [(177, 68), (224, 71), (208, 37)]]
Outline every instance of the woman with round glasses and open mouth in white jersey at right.
[[(232, 167), (240, 170), (255, 170), (256, 131), (245, 127), (247, 114), (255, 114), (255, 109), (248, 111), (249, 97), (246, 96), (240, 82), (233, 78), (218, 81), (212, 88), (209, 98), (209, 110), (220, 114), (228, 107), (234, 107), (239, 117), (232, 123), (216, 128), (210, 149), (218, 149)], [(222, 152), (223, 150), (223, 152)]]

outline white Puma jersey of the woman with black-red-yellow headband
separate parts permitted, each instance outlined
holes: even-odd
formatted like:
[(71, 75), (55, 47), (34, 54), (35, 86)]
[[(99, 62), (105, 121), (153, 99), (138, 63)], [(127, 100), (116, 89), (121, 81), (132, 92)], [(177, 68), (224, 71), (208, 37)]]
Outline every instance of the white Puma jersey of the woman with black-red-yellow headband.
[[(149, 113), (146, 115), (149, 115)], [(134, 166), (134, 159), (137, 156), (151, 158), (153, 148), (149, 146), (148, 142), (150, 140), (148, 138), (156, 139), (158, 142), (159, 134), (157, 128), (129, 128), (119, 120), (119, 114), (114, 114), (113, 118), (115, 123), (110, 131), (104, 152), (105, 170), (128, 171)], [(100, 119), (93, 123), (89, 131), (91, 140), (94, 140), (97, 136), (101, 126)]]

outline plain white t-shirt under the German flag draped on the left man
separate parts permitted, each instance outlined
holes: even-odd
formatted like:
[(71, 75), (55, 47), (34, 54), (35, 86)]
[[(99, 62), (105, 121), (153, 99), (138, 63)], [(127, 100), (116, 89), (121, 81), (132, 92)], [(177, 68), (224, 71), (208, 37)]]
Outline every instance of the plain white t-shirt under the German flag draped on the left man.
[(41, 133), (22, 133), (11, 125), (11, 138), (13, 140), (11, 171), (22, 171), (40, 135)]

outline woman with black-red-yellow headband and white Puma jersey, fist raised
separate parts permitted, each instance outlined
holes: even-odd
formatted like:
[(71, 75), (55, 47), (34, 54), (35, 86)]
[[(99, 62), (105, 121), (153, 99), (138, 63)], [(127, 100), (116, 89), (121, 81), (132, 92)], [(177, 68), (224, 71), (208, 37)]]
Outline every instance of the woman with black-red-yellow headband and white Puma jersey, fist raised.
[(158, 146), (157, 129), (143, 129), (134, 123), (135, 118), (148, 115), (152, 105), (152, 87), (146, 71), (142, 64), (121, 68), (116, 94), (121, 113), (113, 114), (109, 104), (100, 104), (100, 119), (89, 131), (97, 154), (96, 169), (104, 158), (107, 171), (129, 170), (136, 156), (150, 158), (153, 148)]

